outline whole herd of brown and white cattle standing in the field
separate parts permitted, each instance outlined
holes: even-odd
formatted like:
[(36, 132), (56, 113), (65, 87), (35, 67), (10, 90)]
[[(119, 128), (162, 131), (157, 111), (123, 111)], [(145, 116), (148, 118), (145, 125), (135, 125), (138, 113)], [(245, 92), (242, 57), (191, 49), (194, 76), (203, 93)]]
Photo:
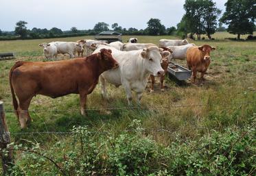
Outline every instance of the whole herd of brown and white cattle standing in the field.
[[(106, 82), (116, 87), (124, 86), (128, 105), (132, 103), (132, 91), (139, 103), (149, 77), (163, 76), (172, 59), (187, 58), (187, 65), (192, 71), (191, 81), (196, 73), (201, 79), (211, 62), (210, 52), (214, 47), (197, 47), (187, 40), (159, 40), (159, 46), (152, 43), (137, 43), (137, 38), (130, 38), (128, 43), (99, 40), (79, 40), (77, 42), (50, 42), (40, 44), (46, 58), (54, 59), (59, 53), (69, 54), (72, 60), (50, 62), (19, 61), (10, 70), (10, 88), (16, 116), (21, 128), (32, 119), (28, 112), (30, 101), (36, 95), (56, 98), (69, 94), (80, 95), (80, 111), (86, 114), (86, 97), (100, 80), (102, 97), (106, 98)], [(82, 58), (83, 56), (86, 56)], [(16, 100), (19, 99), (19, 103)]]

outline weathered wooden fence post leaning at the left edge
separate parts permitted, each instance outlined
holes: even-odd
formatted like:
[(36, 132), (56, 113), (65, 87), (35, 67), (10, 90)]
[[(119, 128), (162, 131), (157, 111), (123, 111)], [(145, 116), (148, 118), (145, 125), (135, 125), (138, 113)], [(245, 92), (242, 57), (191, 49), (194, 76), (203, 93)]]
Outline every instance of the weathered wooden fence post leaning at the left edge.
[[(0, 149), (6, 149), (10, 144), (10, 133), (6, 123), (5, 112), (3, 110), (3, 101), (0, 101)], [(3, 175), (8, 174), (8, 167), (12, 166), (12, 150), (9, 150), (8, 155), (1, 151), (1, 160), (3, 165)]]

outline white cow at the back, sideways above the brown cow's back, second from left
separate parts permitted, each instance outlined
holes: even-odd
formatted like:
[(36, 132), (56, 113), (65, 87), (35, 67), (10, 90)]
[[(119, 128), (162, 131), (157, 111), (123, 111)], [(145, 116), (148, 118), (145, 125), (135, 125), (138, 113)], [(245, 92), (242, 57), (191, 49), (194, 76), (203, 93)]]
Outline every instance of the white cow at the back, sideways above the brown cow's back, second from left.
[(81, 52), (84, 49), (82, 42), (54, 42), (58, 53), (69, 54), (70, 58), (75, 58), (75, 53)]

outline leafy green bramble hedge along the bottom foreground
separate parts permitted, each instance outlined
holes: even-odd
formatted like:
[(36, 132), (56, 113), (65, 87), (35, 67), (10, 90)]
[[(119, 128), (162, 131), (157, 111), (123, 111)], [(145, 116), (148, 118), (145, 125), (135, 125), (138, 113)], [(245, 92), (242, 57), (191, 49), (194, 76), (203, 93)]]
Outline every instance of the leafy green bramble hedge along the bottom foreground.
[(17, 156), (10, 175), (255, 175), (255, 117), (247, 127), (212, 130), (196, 141), (174, 133), (168, 146), (146, 135), (138, 120), (119, 134), (73, 127), (51, 147), (10, 144)]

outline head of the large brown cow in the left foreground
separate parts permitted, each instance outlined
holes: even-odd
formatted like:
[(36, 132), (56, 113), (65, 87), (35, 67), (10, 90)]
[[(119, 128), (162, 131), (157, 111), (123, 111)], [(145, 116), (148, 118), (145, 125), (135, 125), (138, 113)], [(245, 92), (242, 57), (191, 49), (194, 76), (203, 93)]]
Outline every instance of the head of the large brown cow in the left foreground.
[(104, 71), (111, 68), (117, 68), (119, 66), (111, 53), (111, 49), (100, 49), (100, 53), (97, 54), (98, 59), (100, 60), (100, 67), (103, 68)]

